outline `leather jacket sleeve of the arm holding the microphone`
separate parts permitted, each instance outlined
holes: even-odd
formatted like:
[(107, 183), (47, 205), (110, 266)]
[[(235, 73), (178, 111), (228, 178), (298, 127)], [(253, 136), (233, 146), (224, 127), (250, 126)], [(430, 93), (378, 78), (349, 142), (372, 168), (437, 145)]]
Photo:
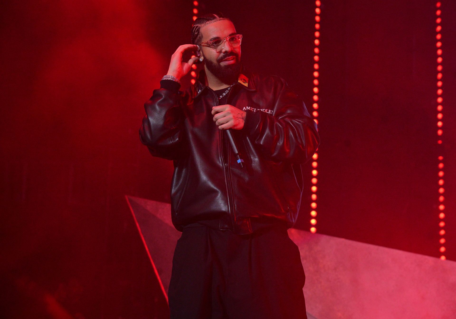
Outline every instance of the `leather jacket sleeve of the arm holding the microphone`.
[(305, 163), (320, 144), (316, 122), (304, 102), (280, 78), (273, 115), (246, 114), (244, 129), (259, 150), (274, 162)]

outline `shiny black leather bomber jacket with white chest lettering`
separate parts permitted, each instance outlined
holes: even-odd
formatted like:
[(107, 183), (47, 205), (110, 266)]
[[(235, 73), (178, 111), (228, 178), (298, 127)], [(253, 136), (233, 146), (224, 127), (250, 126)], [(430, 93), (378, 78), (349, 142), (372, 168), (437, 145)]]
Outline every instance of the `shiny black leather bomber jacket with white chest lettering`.
[(153, 156), (174, 161), (174, 226), (182, 231), (219, 218), (219, 229), (246, 234), (252, 222), (269, 218), (292, 227), (303, 192), (302, 164), (320, 144), (316, 122), (282, 78), (243, 66), (227, 100), (247, 113), (244, 127), (231, 130), (244, 159), (241, 168), (226, 133), (212, 120), (218, 98), (204, 76), (202, 70), (185, 92), (155, 89), (145, 102), (140, 141)]

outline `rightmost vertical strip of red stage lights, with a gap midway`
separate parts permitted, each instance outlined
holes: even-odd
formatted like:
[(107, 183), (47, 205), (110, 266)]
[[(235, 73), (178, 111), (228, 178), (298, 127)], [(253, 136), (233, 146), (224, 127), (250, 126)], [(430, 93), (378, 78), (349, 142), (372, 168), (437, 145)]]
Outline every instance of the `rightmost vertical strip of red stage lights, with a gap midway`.
[[(440, 25), (440, 23), (442, 21), (442, 18), (440, 18), (440, 15), (441, 15), (442, 11), (440, 10), (440, 5), (441, 5), (440, 2), (437, 2), (435, 4), (435, 6), (437, 7), (437, 11), (435, 11), (435, 15), (437, 16), (437, 19), (435, 20), (435, 22), (437, 24), (437, 27), (435, 28), (435, 32), (437, 33), (435, 35), (435, 38), (437, 39), (437, 42), (436, 42), (435, 46), (437, 47), (437, 119), (438, 119), (438, 122), (437, 122), (438, 141), (437, 141), (437, 143), (441, 145), (442, 144), (442, 134), (443, 134), (443, 130), (442, 130), (442, 126), (443, 126), (443, 122), (442, 122), (442, 117), (443, 117), (443, 114), (442, 114), (442, 110), (443, 110), (442, 85), (443, 85), (443, 82), (442, 82), (442, 49), (441, 49), (442, 35), (440, 34), (440, 31), (442, 30), (442, 26)], [(439, 152), (442, 152), (442, 150), (443, 150), (443, 148), (440, 148)], [(443, 196), (443, 193), (445, 192), (445, 188), (443, 187), (443, 184), (444, 184), (443, 166), (444, 165), (443, 165), (443, 156), (440, 155), (438, 158), (439, 158), (438, 175), (439, 175), (439, 219), (440, 219), (440, 222), (439, 222), (439, 227), (440, 227), (439, 251), (441, 253), (440, 259), (445, 260), (446, 257), (443, 254), (446, 251), (446, 248), (443, 245), (445, 243), (445, 238), (443, 237), (445, 235), (445, 229), (444, 229), (445, 221), (443, 220), (445, 218), (445, 213), (443, 212), (445, 209), (445, 205), (443, 204), (443, 201), (445, 200), (445, 197)]]

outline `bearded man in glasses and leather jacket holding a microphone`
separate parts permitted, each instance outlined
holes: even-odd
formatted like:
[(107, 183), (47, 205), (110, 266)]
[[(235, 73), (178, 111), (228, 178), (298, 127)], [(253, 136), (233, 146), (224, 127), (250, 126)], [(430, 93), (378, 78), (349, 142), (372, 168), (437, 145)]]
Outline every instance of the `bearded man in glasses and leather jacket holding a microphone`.
[[(287, 229), (301, 204), (301, 165), (320, 137), (283, 79), (244, 68), (241, 41), (223, 15), (198, 18), (192, 44), (177, 48), (145, 103), (140, 140), (174, 162), (171, 217), (182, 235), (171, 319), (307, 318), (305, 273)], [(185, 51), (200, 56), (182, 61)], [(179, 91), (197, 61), (196, 83)]]

